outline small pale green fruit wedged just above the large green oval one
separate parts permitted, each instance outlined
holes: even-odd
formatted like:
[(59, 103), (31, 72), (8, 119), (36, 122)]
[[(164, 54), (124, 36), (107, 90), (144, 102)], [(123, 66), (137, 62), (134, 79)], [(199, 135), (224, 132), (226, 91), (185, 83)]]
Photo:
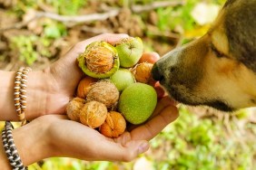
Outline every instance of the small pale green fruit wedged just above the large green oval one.
[(123, 91), (125, 88), (135, 82), (133, 73), (127, 69), (115, 71), (110, 77), (110, 80), (119, 91)]

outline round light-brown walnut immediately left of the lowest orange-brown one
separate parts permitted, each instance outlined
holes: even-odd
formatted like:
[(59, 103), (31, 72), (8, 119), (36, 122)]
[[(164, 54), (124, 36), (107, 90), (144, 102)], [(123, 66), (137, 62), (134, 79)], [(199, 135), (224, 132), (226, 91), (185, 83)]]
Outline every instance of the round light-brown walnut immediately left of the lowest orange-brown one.
[(80, 111), (80, 121), (92, 128), (100, 127), (107, 117), (107, 108), (98, 101), (89, 101)]

